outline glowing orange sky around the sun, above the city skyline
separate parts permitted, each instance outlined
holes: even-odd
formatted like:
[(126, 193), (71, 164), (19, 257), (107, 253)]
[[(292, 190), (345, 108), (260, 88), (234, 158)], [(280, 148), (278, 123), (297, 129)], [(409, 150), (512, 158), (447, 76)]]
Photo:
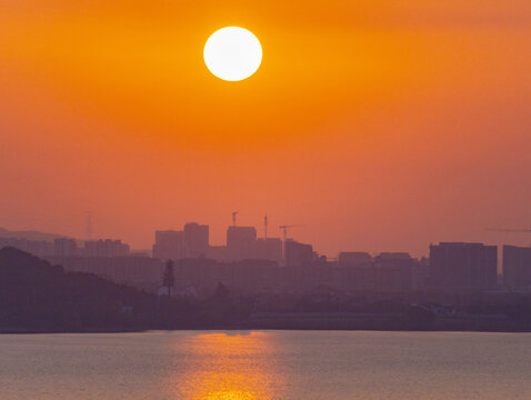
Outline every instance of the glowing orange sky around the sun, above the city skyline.
[[(531, 242), (483, 230), (531, 227), (528, 0), (108, 3), (0, 0), (0, 227), (221, 243), (239, 210), (330, 256)], [(262, 42), (251, 79), (204, 67), (224, 26)]]

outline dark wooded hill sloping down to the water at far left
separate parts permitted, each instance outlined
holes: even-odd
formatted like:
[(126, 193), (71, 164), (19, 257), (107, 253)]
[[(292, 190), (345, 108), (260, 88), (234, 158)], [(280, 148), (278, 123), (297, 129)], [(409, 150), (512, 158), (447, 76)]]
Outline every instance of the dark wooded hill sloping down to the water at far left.
[(177, 328), (177, 300), (91, 273), (64, 272), (14, 248), (0, 250), (0, 331)]

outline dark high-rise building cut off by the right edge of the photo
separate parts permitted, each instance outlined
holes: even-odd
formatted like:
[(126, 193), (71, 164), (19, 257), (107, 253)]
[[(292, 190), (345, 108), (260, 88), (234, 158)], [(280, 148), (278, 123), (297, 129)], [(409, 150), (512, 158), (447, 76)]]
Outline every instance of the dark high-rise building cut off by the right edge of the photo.
[(531, 248), (503, 246), (503, 286), (531, 289)]

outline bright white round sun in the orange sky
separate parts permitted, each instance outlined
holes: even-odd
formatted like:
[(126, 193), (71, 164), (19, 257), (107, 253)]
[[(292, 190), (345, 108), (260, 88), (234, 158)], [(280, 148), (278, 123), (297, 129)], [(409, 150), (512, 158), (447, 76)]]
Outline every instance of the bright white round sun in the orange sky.
[(212, 33), (203, 50), (210, 72), (226, 81), (240, 81), (257, 72), (262, 62), (262, 46), (243, 28), (227, 27)]

